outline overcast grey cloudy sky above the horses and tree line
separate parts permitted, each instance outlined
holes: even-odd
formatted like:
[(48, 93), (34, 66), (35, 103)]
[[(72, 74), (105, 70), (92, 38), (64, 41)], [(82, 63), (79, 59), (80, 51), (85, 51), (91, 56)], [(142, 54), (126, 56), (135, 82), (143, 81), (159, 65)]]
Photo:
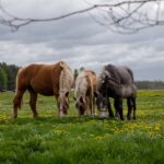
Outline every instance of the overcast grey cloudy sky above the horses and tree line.
[[(2, 2), (22, 17), (51, 17), (87, 5), (83, 0)], [(31, 24), (14, 33), (0, 25), (0, 62), (26, 66), (59, 60), (68, 61), (72, 69), (83, 66), (97, 73), (104, 65), (124, 65), (133, 70), (137, 80), (164, 80), (164, 26), (121, 35), (101, 26), (87, 13)]]

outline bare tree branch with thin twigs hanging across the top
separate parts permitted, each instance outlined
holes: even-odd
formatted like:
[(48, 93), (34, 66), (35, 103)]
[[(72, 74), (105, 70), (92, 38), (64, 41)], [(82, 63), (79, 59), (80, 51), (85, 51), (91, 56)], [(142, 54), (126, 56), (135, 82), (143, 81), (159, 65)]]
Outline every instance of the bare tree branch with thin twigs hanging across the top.
[[(20, 27), (32, 23), (58, 21), (87, 12), (95, 22), (106, 26), (110, 31), (131, 34), (143, 28), (164, 25), (164, 20), (161, 19), (164, 10), (162, 8), (163, 2), (164, 0), (122, 0), (115, 3), (87, 3), (89, 7), (85, 9), (47, 19), (13, 15), (0, 2), (0, 24), (11, 27), (12, 31), (17, 31)], [(156, 9), (153, 8), (154, 5)], [(153, 10), (149, 8), (153, 8)]]

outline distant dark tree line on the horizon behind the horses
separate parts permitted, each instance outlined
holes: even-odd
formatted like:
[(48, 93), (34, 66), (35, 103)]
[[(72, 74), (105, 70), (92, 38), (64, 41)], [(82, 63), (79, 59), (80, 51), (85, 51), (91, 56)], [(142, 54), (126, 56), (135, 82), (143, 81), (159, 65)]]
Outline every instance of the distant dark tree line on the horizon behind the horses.
[[(15, 90), (15, 79), (19, 69), (19, 66), (0, 62), (0, 92)], [(84, 69), (84, 67), (74, 69), (74, 79)], [(164, 81), (136, 81), (136, 85), (139, 90), (164, 90)]]

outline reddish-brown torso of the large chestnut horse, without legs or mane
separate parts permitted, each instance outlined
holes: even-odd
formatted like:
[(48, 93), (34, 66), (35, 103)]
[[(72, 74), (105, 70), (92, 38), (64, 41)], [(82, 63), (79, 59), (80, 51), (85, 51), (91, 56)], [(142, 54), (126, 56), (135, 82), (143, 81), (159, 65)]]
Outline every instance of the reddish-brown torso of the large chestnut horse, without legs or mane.
[(34, 90), (43, 95), (58, 94), (62, 68), (56, 65), (30, 65), (17, 73), (17, 89)]

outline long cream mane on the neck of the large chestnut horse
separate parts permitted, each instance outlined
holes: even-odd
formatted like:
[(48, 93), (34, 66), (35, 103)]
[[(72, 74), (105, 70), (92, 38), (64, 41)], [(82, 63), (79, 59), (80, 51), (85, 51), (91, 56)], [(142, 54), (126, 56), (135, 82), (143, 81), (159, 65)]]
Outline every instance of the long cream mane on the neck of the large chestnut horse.
[(72, 71), (67, 62), (59, 61), (59, 66), (62, 68), (59, 78), (59, 94), (66, 94), (67, 92), (70, 92), (74, 79)]

